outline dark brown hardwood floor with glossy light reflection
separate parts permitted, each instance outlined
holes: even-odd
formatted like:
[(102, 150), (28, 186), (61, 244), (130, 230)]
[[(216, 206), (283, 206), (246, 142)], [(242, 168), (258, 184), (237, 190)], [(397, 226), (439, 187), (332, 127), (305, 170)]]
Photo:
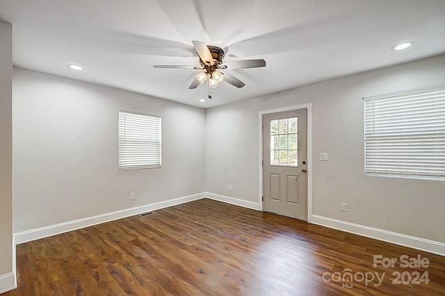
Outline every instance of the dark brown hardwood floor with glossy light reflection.
[(17, 277), (2, 296), (445, 295), (445, 257), (201, 199), (18, 245)]

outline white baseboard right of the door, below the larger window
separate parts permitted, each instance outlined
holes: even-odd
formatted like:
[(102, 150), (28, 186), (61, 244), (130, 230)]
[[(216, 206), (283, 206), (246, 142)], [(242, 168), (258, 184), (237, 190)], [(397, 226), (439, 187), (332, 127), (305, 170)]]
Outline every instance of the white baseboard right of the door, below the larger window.
[(407, 236), (406, 234), (402, 233), (396, 233), (393, 231), (367, 227), (360, 224), (350, 223), (318, 215), (312, 215), (312, 217), (310, 217), (309, 219), (309, 222), (324, 227), (355, 233), (358, 234), (359, 236), (375, 238), (376, 240), (383, 240), (385, 242), (391, 242), (396, 245), (402, 245), (404, 247), (410, 247), (414, 249), (419, 249), (421, 251), (445, 256), (444, 242), (427, 240), (425, 238), (417, 238), (415, 236)]

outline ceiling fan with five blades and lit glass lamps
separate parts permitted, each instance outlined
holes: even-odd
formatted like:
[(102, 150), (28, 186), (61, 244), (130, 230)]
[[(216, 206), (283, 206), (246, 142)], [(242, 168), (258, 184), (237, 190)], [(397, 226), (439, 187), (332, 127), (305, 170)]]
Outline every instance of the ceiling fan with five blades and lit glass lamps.
[(248, 69), (256, 67), (265, 67), (266, 61), (259, 60), (233, 60), (223, 64), (224, 50), (220, 47), (207, 45), (204, 42), (193, 40), (193, 45), (200, 58), (200, 67), (181, 66), (181, 65), (154, 65), (155, 68), (167, 69), (195, 69), (202, 70), (193, 79), (188, 87), (189, 89), (197, 88), (209, 78), (210, 88), (217, 88), (220, 83), (226, 81), (237, 88), (242, 88), (245, 83), (237, 79), (232, 74), (221, 72), (221, 70)]

